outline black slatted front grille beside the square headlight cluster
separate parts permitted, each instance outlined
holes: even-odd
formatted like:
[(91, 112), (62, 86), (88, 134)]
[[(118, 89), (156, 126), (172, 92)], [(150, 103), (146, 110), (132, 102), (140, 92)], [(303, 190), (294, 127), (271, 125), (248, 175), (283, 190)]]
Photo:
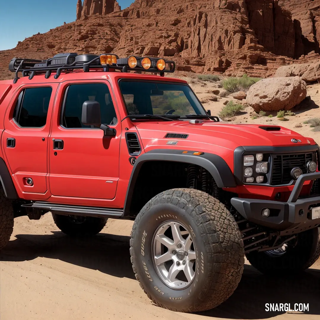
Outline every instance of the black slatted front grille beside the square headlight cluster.
[(286, 154), (274, 155), (272, 163), (271, 185), (289, 184), (292, 180), (291, 171), (293, 168), (300, 168), (302, 174), (308, 173), (306, 163), (313, 161), (315, 154), (300, 153), (300, 154)]

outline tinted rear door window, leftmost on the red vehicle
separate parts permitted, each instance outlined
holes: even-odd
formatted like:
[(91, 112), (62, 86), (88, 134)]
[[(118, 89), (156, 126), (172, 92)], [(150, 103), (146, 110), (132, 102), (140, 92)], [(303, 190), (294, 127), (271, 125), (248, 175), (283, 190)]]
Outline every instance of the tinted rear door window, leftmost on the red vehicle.
[(22, 128), (41, 128), (46, 124), (51, 87), (24, 89), (17, 101), (13, 119)]

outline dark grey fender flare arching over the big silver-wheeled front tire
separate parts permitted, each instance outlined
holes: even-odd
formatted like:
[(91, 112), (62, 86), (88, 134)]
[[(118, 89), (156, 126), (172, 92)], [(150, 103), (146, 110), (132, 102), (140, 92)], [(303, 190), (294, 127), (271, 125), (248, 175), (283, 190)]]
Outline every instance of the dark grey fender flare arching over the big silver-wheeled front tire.
[(188, 151), (187, 154), (183, 154), (183, 151), (184, 150), (154, 149), (138, 157), (134, 164), (129, 180), (127, 194), (124, 201), (123, 216), (128, 216), (130, 213), (129, 210), (132, 201), (133, 190), (140, 169), (144, 163), (149, 161), (171, 161), (199, 165), (210, 172), (219, 188), (236, 187), (236, 180), (231, 169), (225, 160), (220, 156), (212, 153), (204, 153), (203, 155), (195, 156), (192, 154), (195, 151)]

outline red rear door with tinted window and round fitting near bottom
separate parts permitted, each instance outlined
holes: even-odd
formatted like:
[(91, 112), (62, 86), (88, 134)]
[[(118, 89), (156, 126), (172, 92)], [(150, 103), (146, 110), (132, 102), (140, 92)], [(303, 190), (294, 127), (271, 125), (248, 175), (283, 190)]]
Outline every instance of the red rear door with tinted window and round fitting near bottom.
[(49, 187), (47, 147), (57, 87), (58, 84), (21, 87), (12, 99), (4, 119), (4, 154), (20, 192), (33, 194), (32, 199), (37, 198), (34, 194), (44, 199), (43, 194), (46, 194)]

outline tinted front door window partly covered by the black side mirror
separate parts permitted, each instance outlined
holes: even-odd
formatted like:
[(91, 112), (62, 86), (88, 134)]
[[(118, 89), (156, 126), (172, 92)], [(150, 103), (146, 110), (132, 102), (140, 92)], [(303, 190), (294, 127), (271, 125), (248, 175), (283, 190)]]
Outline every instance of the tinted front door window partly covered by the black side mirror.
[(61, 125), (65, 128), (91, 128), (81, 122), (84, 101), (99, 102), (102, 124), (114, 125), (117, 123), (115, 107), (106, 84), (71, 84), (65, 95), (61, 119)]

